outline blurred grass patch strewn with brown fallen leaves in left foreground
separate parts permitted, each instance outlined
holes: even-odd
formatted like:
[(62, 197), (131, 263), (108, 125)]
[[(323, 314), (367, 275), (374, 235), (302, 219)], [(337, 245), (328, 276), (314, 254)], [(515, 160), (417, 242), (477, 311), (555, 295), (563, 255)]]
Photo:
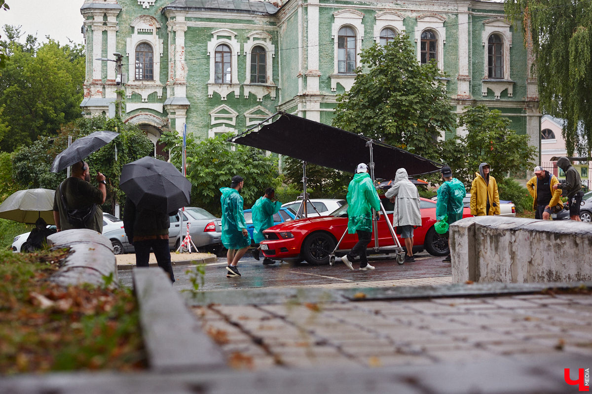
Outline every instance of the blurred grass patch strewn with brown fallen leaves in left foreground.
[(0, 373), (146, 367), (130, 289), (47, 281), (65, 251), (0, 251)]

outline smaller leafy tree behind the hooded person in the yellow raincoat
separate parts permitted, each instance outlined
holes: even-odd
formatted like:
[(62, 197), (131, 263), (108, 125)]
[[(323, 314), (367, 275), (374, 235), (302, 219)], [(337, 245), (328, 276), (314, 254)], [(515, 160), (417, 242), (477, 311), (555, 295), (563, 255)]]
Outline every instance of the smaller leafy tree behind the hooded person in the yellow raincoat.
[(455, 177), (469, 187), (481, 162), (491, 166), (491, 174), (504, 178), (508, 174), (532, 167), (535, 147), (528, 145), (527, 135), (517, 135), (509, 128), (510, 119), (497, 109), (484, 105), (465, 108), (458, 126), (466, 136), (456, 136), (441, 144), (443, 162), (450, 165)]

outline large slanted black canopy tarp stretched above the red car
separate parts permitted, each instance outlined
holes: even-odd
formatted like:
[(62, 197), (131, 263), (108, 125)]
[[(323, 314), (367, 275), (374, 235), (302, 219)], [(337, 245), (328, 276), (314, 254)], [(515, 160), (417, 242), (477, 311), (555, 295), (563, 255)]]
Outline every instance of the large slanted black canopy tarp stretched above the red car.
[[(370, 151), (366, 146), (369, 140), (362, 135), (287, 113), (262, 126), (259, 131), (245, 132), (230, 139), (236, 144), (347, 172), (355, 172), (359, 163), (370, 161)], [(442, 167), (435, 161), (379, 141), (373, 141), (372, 146), (376, 178), (392, 179), (398, 168), (405, 168), (411, 176), (435, 172)]]

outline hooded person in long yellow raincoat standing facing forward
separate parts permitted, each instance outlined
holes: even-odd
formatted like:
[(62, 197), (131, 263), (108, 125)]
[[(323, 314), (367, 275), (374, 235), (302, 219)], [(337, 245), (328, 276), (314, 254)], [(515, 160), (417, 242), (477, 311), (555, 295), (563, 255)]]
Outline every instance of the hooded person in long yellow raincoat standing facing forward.
[(497, 192), (496, 178), (489, 174), (487, 163), (479, 165), (471, 185), (471, 214), (474, 216), (500, 214), (500, 195)]

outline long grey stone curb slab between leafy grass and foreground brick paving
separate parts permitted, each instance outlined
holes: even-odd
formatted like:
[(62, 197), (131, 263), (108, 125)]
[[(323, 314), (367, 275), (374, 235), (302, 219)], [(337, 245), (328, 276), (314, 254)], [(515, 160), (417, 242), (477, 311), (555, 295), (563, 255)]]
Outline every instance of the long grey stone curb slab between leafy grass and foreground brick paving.
[(202, 331), (160, 268), (136, 268), (134, 291), (150, 370), (195, 372), (226, 369), (220, 347)]

